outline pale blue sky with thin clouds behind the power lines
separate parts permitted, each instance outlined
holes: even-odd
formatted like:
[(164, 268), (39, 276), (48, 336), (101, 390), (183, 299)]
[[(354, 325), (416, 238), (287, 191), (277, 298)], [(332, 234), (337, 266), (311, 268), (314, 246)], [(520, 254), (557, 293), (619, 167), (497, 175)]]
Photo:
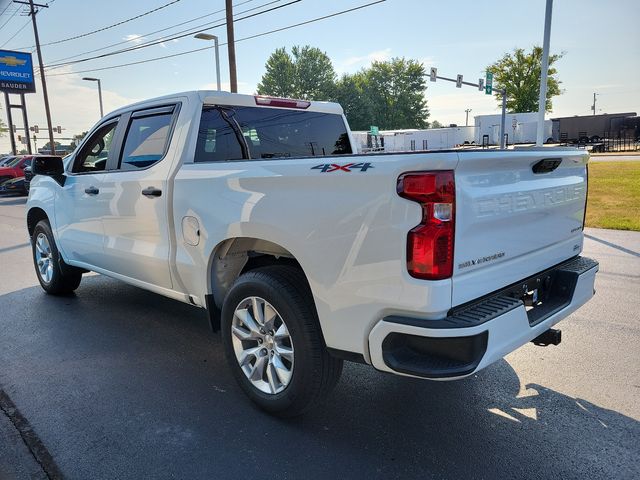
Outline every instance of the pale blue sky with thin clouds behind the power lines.
[[(236, 19), (281, 6), (235, 23), (239, 92), (255, 93), (265, 71), (265, 61), (279, 47), (288, 50), (294, 45), (318, 47), (331, 58), (338, 74), (356, 72), (374, 60), (405, 57), (422, 62), (427, 71), (434, 66), (439, 75), (462, 74), (465, 80), (477, 82), (484, 77), (486, 66), (504, 53), (516, 47), (530, 49), (534, 44), (542, 44), (545, 0), (386, 0), (315, 23), (242, 40), (372, 1), (235, 0)], [(226, 42), (226, 29), (221, 25), (224, 0), (173, 0), (156, 12), (113, 28), (47, 45), (109, 27), (170, 2), (172, 0), (37, 0), (36, 3), (49, 4), (49, 8), (37, 14), (44, 64), (61, 63), (61, 59), (71, 56), (75, 57), (70, 60), (79, 60), (185, 30), (187, 33), (207, 29), (208, 33), (217, 35), (221, 43)], [(0, 12), (0, 48), (32, 51), (33, 29), (29, 17), (24, 16), (24, 8), (10, 0), (0, 0)], [(204, 15), (208, 16), (179, 25)], [(639, 0), (555, 0), (551, 52), (564, 52), (556, 64), (563, 93), (553, 99), (553, 112), (548, 118), (590, 114), (594, 92), (598, 95), (598, 113), (640, 112), (639, 21)], [(152, 34), (161, 29), (165, 30)], [(215, 88), (213, 48), (167, 58), (212, 43), (188, 35), (148, 48), (47, 70), (54, 126), (63, 128), (62, 137), (71, 137), (98, 121), (96, 84), (83, 81), (84, 76), (101, 79), (105, 113), (137, 100)], [(118, 45), (104, 48), (112, 44)], [(85, 53), (96, 49), (102, 50)], [(157, 57), (161, 59), (95, 70)], [(35, 52), (34, 63), (37, 65)], [(220, 65), (222, 87), (228, 89), (226, 46), (220, 47)], [(37, 81), (37, 92), (26, 95), (26, 102), (30, 124), (43, 128), (46, 119), (39, 77)], [(455, 84), (444, 81), (428, 82), (427, 86), (430, 121), (464, 125), (465, 109), (472, 110), (470, 123), (474, 115), (499, 112), (494, 97), (472, 87), (457, 89)], [(12, 98), (17, 103), (19, 97)], [(0, 104), (0, 118), (6, 123), (6, 106), (4, 101)], [(15, 119), (19, 111), (14, 112)], [(22, 126), (20, 120), (16, 120), (19, 127)], [(39, 146), (46, 142), (44, 136), (41, 131)], [(0, 138), (0, 152), (9, 150), (9, 139), (5, 135)]]

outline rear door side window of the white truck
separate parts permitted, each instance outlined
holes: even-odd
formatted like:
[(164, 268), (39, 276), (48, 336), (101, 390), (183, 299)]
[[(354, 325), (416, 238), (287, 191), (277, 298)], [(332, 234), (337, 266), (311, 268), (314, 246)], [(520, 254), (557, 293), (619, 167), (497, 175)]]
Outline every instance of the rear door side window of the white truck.
[(120, 170), (150, 167), (164, 157), (169, 145), (173, 109), (142, 116), (136, 114), (129, 121)]

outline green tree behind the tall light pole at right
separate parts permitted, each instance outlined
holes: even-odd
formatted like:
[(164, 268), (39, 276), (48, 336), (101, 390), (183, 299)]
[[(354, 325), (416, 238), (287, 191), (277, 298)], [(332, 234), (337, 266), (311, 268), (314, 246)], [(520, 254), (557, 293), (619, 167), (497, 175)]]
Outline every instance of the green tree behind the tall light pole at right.
[[(557, 70), (553, 65), (564, 54), (549, 55), (549, 70), (547, 76), (547, 101), (545, 110), (553, 109), (551, 99), (560, 95), (560, 84)], [(510, 112), (537, 112), (540, 96), (540, 71), (542, 67), (542, 48), (534, 46), (531, 52), (516, 48), (495, 63), (487, 67), (493, 73), (494, 92), (498, 104), (502, 105), (499, 91), (507, 89), (507, 110)]]

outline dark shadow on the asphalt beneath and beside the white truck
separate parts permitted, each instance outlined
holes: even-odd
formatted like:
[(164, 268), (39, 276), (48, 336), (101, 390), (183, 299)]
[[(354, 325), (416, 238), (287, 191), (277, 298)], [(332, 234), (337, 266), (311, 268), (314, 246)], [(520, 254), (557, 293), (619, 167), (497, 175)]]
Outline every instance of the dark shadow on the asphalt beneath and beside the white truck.
[(236, 386), (203, 310), (90, 275), (0, 311), (0, 385), (69, 478), (640, 477), (640, 422), (522, 388), (505, 360), (457, 382), (345, 364), (325, 404), (280, 420)]

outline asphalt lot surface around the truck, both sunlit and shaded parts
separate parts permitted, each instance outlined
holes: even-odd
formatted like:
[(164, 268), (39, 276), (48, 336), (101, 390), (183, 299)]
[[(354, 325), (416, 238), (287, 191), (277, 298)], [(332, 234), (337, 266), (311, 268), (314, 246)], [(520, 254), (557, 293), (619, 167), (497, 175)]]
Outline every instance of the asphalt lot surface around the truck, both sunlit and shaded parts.
[(282, 421), (236, 386), (203, 311), (99, 275), (40, 289), (0, 198), (0, 479), (640, 478), (640, 233), (588, 229), (597, 295), (447, 383), (346, 364)]

